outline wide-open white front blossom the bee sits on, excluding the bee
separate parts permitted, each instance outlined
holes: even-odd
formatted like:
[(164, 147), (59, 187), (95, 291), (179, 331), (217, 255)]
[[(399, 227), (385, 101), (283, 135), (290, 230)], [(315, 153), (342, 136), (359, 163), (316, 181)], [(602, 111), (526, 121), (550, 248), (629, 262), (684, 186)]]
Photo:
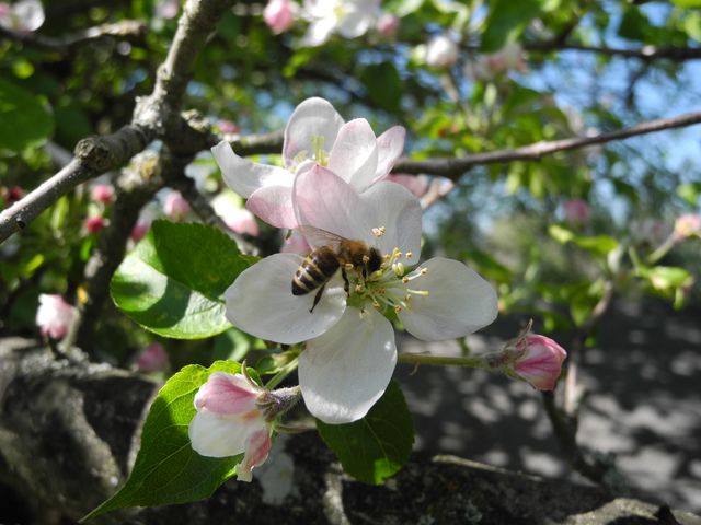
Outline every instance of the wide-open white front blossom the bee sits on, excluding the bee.
[[(292, 200), (310, 244), (330, 232), (359, 240), (382, 254), (379, 270), (346, 268), (315, 293), (294, 295), (291, 281), (303, 258), (275, 254), (244, 270), (226, 291), (227, 317), (263, 339), (307, 341), (299, 357), (299, 385), (309, 411), (327, 423), (363, 418), (383, 394), (397, 363), (392, 312), (423, 340), (462, 337), (496, 317), (492, 287), (466, 265), (437, 257), (413, 271), (421, 253), (421, 207), (404, 187), (380, 182), (359, 192), (314, 165), (297, 175)], [(314, 230), (318, 229), (318, 230)]]

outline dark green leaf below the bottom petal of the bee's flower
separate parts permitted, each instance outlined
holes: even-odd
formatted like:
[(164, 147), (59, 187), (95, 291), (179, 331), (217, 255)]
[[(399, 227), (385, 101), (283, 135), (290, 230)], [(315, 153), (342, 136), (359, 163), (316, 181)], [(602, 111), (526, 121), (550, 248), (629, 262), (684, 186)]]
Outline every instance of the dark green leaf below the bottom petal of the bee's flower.
[(317, 421), (317, 430), (338, 456), (343, 469), (370, 485), (379, 485), (399, 471), (409, 460), (414, 443), (412, 418), (404, 395), (393, 381), (360, 421), (347, 424)]

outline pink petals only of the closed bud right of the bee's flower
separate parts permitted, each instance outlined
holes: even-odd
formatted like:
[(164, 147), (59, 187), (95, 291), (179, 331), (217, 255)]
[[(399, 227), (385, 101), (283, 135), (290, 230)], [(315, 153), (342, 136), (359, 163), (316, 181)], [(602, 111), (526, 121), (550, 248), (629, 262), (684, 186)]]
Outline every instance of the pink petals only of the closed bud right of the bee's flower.
[(539, 390), (554, 389), (567, 352), (549, 337), (537, 334), (520, 337), (516, 350), (510, 363), (516, 375)]

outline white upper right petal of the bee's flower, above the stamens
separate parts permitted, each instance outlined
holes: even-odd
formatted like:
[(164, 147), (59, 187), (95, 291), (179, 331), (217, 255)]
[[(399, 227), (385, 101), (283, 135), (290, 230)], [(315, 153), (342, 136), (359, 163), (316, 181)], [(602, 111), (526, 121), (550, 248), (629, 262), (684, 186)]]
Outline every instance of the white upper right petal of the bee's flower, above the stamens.
[(360, 194), (360, 215), (372, 228), (384, 226), (384, 234), (374, 240), (382, 254), (394, 248), (412, 252), (404, 261), (412, 266), (421, 255), (421, 203), (405, 187), (397, 183), (377, 183)]

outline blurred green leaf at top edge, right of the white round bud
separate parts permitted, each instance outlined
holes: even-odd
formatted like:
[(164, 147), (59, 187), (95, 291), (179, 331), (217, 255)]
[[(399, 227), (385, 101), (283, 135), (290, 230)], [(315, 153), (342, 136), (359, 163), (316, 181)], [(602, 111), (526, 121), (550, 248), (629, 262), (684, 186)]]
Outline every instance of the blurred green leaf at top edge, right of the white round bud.
[(540, 1), (495, 0), (490, 4), (486, 28), (482, 34), (480, 50), (494, 52), (507, 44), (516, 42), (531, 20), (542, 12)]

